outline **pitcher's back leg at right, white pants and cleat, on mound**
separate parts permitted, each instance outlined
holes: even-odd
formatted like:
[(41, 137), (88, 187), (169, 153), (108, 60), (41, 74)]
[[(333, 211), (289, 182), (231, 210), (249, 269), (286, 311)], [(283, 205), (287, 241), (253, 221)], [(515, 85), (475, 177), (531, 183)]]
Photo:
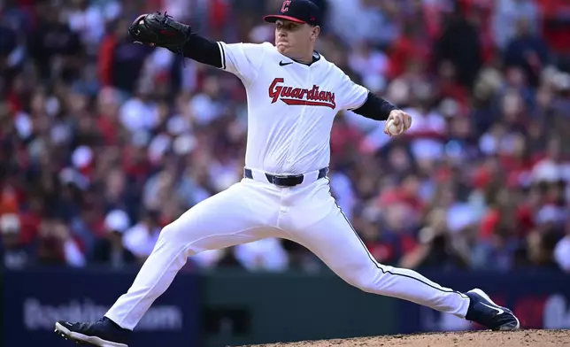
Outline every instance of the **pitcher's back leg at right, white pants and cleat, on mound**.
[[(412, 301), (440, 312), (476, 320), (489, 328), (497, 328), (497, 324), (503, 328), (514, 328), (514, 325), (518, 328), (518, 321), (512, 313), (512, 317), (502, 317), (506, 320), (490, 320), (489, 315), (496, 315), (496, 309), (491, 308), (484, 314), (473, 310), (478, 302), (482, 305), (477, 307), (483, 309), (485, 305), (499, 308), (479, 292), (463, 294), (442, 287), (415, 271), (376, 262), (330, 196), (327, 181), (319, 181), (314, 186), (311, 197), (299, 197), (299, 203), (291, 209), (287, 229), (293, 241), (315, 253), (344, 281), (366, 292)], [(505, 311), (505, 308), (500, 310)]]

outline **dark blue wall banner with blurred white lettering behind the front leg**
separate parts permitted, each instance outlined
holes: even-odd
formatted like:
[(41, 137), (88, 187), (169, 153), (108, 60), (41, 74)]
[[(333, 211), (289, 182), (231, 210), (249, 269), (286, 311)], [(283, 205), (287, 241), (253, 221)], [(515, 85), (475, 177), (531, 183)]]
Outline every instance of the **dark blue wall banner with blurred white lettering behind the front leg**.
[[(97, 320), (125, 293), (135, 273), (42, 269), (4, 272), (4, 346), (69, 345), (57, 320)], [(135, 346), (198, 346), (198, 277), (179, 274), (135, 328)]]

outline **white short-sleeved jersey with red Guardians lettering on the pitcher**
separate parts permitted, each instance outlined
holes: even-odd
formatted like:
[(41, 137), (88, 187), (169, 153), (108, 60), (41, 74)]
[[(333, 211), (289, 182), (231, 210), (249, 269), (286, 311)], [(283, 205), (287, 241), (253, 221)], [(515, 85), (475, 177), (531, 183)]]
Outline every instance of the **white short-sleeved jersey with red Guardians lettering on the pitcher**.
[(311, 66), (269, 42), (218, 42), (221, 69), (243, 82), (248, 103), (245, 166), (271, 174), (327, 167), (335, 115), (366, 102), (368, 89), (320, 58)]

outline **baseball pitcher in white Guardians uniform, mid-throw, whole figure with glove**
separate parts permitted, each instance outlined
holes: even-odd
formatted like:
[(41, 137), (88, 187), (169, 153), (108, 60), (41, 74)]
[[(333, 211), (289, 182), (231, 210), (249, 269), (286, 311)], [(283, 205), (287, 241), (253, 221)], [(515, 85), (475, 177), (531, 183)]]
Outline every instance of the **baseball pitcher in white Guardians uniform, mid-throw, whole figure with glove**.
[(161, 13), (144, 14), (129, 28), (135, 42), (183, 54), (243, 82), (249, 122), (243, 180), (166, 226), (132, 287), (104, 317), (58, 321), (56, 332), (76, 342), (127, 347), (137, 323), (189, 256), (266, 237), (302, 244), (366, 292), (426, 305), (495, 330), (519, 328), (514, 314), (481, 289), (460, 293), (375, 261), (330, 194), (330, 131), (341, 110), (386, 121), (389, 135), (404, 133), (412, 119), (350, 81), (314, 50), (321, 13), (311, 1), (283, 1), (264, 19), (274, 23), (274, 44), (213, 42)]

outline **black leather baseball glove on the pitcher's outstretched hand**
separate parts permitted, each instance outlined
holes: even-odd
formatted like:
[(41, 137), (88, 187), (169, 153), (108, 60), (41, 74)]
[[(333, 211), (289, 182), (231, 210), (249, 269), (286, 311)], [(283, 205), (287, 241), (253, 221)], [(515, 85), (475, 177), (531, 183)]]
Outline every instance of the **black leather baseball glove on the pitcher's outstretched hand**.
[(128, 27), (128, 34), (134, 42), (174, 51), (181, 51), (191, 32), (190, 26), (173, 20), (166, 12), (140, 15)]

